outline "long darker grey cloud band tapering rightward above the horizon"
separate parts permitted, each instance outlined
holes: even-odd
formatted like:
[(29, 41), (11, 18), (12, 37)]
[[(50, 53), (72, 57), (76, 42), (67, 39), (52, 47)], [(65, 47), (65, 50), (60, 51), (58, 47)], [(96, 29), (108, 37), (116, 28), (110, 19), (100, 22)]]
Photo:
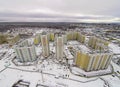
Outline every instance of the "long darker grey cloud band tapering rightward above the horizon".
[(83, 16), (75, 16), (73, 15), (67, 15), (67, 14), (56, 14), (56, 13), (42, 13), (42, 12), (38, 12), (38, 13), (17, 13), (17, 12), (0, 12), (0, 17), (31, 17), (31, 18), (73, 18), (73, 19), (108, 19), (111, 17), (103, 17), (103, 16), (90, 16), (90, 15), (83, 15)]

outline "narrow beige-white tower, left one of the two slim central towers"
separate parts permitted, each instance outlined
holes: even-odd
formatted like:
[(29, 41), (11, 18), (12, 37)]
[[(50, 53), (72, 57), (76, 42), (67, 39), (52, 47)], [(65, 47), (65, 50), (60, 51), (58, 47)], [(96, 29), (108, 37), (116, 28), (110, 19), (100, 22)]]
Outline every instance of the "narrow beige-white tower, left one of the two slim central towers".
[(48, 57), (50, 54), (48, 35), (41, 35), (41, 43), (43, 56)]

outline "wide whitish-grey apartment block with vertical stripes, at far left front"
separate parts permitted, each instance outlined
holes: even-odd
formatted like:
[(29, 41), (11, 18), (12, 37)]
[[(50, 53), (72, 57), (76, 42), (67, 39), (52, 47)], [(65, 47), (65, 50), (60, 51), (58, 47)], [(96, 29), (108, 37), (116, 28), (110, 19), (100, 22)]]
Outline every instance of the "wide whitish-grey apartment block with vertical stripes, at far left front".
[(19, 58), (21, 62), (32, 62), (37, 59), (34, 46), (16, 46), (14, 50), (16, 52), (17, 58)]

